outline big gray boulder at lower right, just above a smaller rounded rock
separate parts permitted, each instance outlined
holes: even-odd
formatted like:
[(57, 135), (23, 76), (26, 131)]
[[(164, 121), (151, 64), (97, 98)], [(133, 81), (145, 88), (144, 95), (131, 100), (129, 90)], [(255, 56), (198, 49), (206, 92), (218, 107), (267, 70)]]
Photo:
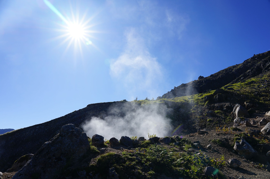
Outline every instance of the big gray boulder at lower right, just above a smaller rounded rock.
[(258, 155), (257, 151), (255, 151), (255, 149), (244, 139), (241, 139), (240, 142), (235, 142), (234, 150), (238, 153), (238, 155), (246, 159), (251, 159)]

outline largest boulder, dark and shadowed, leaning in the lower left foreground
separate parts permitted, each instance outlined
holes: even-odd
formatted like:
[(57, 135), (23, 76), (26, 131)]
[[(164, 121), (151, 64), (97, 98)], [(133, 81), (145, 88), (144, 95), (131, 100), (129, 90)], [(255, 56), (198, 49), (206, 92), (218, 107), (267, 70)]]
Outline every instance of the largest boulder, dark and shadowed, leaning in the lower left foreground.
[(67, 124), (41, 146), (13, 179), (59, 178), (66, 166), (78, 162), (89, 149), (86, 134), (74, 124)]

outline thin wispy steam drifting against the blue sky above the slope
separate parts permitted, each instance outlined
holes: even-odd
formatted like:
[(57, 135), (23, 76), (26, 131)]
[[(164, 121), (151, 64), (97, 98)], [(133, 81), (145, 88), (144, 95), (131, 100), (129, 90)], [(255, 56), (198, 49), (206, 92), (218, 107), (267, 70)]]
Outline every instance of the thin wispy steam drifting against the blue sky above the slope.
[(124, 52), (110, 62), (111, 77), (122, 84), (130, 95), (143, 92), (146, 96), (157, 96), (163, 81), (162, 66), (149, 53), (144, 39), (134, 28), (127, 30), (125, 35)]

